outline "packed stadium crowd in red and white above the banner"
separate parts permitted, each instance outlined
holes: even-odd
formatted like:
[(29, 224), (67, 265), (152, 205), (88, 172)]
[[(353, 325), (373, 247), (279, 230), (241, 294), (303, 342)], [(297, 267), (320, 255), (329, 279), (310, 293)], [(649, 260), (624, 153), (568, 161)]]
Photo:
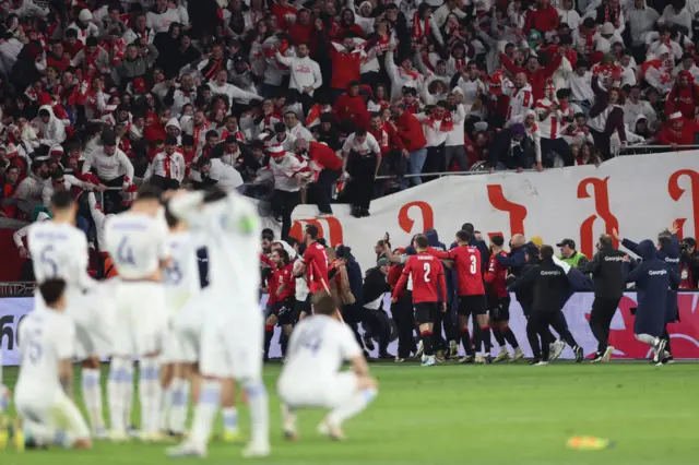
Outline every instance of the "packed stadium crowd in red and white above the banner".
[[(134, 183), (218, 184), (270, 200), (286, 236), (297, 204), (331, 214), (335, 189), (366, 216), (372, 198), (420, 175), (692, 144), (698, 11), (694, 0), (4, 0), (0, 215), (34, 220), (63, 188), (103, 192), (115, 213)], [(83, 196), (85, 230), (95, 204)]]

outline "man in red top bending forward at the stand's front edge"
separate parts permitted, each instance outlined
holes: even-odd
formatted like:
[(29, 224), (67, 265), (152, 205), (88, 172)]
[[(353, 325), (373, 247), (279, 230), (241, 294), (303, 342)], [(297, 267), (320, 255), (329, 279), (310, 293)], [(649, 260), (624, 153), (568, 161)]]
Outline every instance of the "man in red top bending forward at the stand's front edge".
[(318, 180), (310, 184), (310, 195), (318, 204), (320, 216), (332, 216), (332, 187), (342, 175), (342, 158), (328, 145), (305, 139), (296, 140), (296, 153), (307, 155), (321, 168)]

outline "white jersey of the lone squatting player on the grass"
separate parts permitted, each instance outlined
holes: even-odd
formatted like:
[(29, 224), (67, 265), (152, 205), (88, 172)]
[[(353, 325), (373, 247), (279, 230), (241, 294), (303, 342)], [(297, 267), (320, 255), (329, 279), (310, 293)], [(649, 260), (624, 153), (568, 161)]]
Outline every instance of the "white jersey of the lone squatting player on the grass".
[(324, 314), (305, 318), (292, 333), (280, 383), (287, 377), (296, 380), (330, 379), (345, 360), (358, 355), (362, 355), (362, 348), (350, 326)]

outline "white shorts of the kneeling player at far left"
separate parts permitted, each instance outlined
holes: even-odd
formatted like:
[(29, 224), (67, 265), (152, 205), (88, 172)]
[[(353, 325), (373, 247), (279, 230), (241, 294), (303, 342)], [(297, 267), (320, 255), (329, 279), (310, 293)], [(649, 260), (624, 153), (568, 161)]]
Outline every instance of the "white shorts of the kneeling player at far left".
[(15, 404), (24, 428), (40, 442), (50, 442), (58, 431), (64, 431), (76, 439), (90, 438), (90, 428), (73, 401), (64, 393), (56, 393), (49, 398), (15, 395)]

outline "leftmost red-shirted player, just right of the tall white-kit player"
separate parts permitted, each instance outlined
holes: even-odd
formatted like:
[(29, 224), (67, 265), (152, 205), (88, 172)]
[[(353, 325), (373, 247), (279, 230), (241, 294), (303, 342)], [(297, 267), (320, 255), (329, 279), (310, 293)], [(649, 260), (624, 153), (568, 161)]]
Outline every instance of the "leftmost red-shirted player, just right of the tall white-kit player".
[(272, 313), (264, 323), (264, 359), (266, 360), (270, 353), (270, 344), (274, 336), (274, 326), (279, 323), (282, 331), (286, 335), (280, 336), (282, 344), (282, 355), (286, 356), (286, 343), (296, 323), (297, 314), (294, 311), (294, 293), (296, 290), (296, 278), (293, 270), (294, 264), (291, 262), (288, 252), (283, 247), (276, 248), (272, 252), (270, 261), (274, 271), (268, 279)]

